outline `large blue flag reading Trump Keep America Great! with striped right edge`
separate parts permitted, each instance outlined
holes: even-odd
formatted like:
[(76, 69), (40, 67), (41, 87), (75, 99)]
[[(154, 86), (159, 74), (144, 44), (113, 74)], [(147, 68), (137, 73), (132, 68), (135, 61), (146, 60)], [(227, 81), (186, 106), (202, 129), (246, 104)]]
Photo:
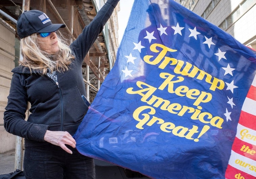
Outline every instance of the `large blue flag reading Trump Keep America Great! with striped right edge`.
[(255, 53), (174, 1), (152, 2), (134, 1), (78, 151), (151, 178), (255, 178)]

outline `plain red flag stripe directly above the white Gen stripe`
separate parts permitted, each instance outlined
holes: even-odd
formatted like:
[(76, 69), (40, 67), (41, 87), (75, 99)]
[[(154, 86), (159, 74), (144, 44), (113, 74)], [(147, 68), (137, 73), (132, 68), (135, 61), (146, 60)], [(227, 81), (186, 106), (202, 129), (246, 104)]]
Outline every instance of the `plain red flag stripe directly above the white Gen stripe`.
[(241, 111), (238, 123), (250, 129), (256, 130), (256, 116), (247, 112)]

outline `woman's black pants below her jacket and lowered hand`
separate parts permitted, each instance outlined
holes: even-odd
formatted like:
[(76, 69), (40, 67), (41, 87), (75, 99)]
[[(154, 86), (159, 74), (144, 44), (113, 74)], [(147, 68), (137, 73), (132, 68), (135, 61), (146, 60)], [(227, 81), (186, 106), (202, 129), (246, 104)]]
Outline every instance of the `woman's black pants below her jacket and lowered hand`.
[(69, 147), (69, 154), (52, 144), (26, 147), (24, 172), (27, 179), (95, 179), (95, 165), (91, 157), (81, 155)]

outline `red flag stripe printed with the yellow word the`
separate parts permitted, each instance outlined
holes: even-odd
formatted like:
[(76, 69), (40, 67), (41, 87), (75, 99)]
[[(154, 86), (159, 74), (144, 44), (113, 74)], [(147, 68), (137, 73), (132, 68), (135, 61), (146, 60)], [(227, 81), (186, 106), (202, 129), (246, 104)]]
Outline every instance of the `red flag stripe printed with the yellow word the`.
[(247, 142), (241, 141), (235, 138), (232, 150), (242, 156), (256, 160), (256, 145), (249, 144)]

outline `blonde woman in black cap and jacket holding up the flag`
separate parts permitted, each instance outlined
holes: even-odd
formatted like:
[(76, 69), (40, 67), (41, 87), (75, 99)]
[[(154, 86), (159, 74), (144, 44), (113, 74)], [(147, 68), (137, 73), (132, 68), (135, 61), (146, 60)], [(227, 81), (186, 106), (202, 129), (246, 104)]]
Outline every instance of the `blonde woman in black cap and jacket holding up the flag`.
[[(27, 179), (95, 178), (94, 160), (75, 149), (73, 139), (88, 110), (82, 62), (119, 0), (108, 0), (78, 38), (67, 46), (56, 34), (64, 24), (52, 24), (39, 10), (23, 12), (17, 22), (23, 60), (14, 68), (5, 129), (25, 138)], [(31, 103), (25, 121), (27, 103)]]

